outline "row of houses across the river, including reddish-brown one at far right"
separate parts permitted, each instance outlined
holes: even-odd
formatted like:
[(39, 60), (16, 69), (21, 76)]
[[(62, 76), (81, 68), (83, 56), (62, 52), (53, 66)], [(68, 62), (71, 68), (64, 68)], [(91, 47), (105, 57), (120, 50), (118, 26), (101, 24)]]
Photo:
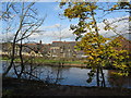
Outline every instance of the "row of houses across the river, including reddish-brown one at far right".
[[(122, 47), (120, 49), (126, 49), (131, 51), (131, 41), (127, 38), (119, 36), (117, 37)], [(0, 50), (0, 54), (11, 54), (12, 44), (3, 42), (1, 44), (2, 50)], [(83, 51), (78, 51), (74, 46), (76, 46), (76, 41), (52, 41), (52, 44), (41, 44), (39, 42), (31, 42), (23, 44), (22, 53), (24, 56), (35, 56), (35, 57), (52, 57), (52, 58), (85, 58)], [(116, 48), (120, 50), (119, 48)], [(15, 54), (19, 56), (20, 44), (16, 44)]]

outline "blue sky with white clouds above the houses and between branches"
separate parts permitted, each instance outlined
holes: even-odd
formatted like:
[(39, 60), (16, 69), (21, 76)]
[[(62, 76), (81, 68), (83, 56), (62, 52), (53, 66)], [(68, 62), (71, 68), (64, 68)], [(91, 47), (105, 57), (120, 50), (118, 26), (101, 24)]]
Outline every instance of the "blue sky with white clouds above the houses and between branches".
[[(99, 5), (105, 5), (105, 3), (100, 3)], [(59, 8), (59, 2), (36, 2), (34, 5), (37, 11), (39, 16), (46, 16), (44, 24), (41, 25), (41, 27), (39, 27), (39, 30), (44, 30), (40, 32), (38, 34), (34, 34), (32, 36), (29, 36), (29, 40), (31, 41), (35, 41), (38, 42), (39, 40), (43, 41), (43, 44), (51, 44), (52, 41), (58, 41), (61, 40), (62, 41), (74, 41), (75, 40), (75, 35), (73, 35), (72, 30), (70, 30), (70, 25), (71, 24), (76, 24), (78, 20), (69, 20), (67, 17), (60, 16), (59, 14), (62, 14), (63, 9)], [(122, 17), (127, 17), (129, 15), (129, 13), (126, 12), (112, 12), (108, 15), (106, 15), (104, 19), (102, 19), (102, 16), (104, 15), (104, 13), (102, 11), (97, 11), (97, 15), (99, 16), (98, 20), (98, 25), (102, 28), (100, 33), (105, 34), (106, 36), (111, 36), (114, 35), (112, 32), (110, 32), (109, 34), (106, 34), (106, 32), (103, 29), (104, 24), (102, 23), (102, 21), (104, 19), (111, 21), (115, 20), (119, 20)], [(116, 25), (120, 25), (121, 23), (116, 23)], [(124, 24), (124, 26), (123, 26)], [(4, 25), (4, 24), (3, 24)], [(122, 26), (117, 27), (117, 30), (120, 28), (122, 29), (122, 27), (128, 27), (128, 23), (122, 22)], [(4, 28), (4, 27), (3, 27)], [(8, 37), (7, 37), (8, 36)], [(10, 36), (13, 36), (13, 34), (9, 33), (8, 35), (2, 33), (0, 35), (0, 38), (9, 38)]]

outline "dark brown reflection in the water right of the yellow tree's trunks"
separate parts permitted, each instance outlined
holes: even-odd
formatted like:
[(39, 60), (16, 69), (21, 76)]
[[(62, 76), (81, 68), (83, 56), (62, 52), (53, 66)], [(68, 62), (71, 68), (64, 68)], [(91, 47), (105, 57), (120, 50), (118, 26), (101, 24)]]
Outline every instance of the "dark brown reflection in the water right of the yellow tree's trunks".
[(117, 74), (114, 74), (112, 70), (108, 71), (108, 82), (112, 87), (122, 87), (123, 85), (130, 84), (129, 81), (131, 77), (129, 76), (120, 76)]

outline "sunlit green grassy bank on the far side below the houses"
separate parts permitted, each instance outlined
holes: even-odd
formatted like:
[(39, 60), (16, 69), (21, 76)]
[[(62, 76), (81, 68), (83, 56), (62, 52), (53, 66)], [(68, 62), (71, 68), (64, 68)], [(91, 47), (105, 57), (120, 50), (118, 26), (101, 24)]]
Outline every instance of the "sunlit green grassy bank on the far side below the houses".
[[(9, 58), (7, 57), (2, 57), (1, 58), (3, 61), (8, 60), (10, 61)], [(29, 57), (24, 57), (24, 62), (26, 62), (25, 64), (34, 64), (34, 65), (51, 65), (51, 66), (58, 66), (58, 65), (62, 65), (62, 66), (75, 66), (75, 68), (87, 68), (91, 69), (91, 66), (87, 66), (87, 64), (85, 63), (85, 60), (66, 60), (66, 59), (59, 59), (59, 60), (53, 60), (53, 59), (44, 59), (44, 58), (29, 58)], [(15, 59), (14, 62), (21, 62), (20, 59)], [(106, 65), (104, 68), (105, 70), (115, 70), (115, 68), (110, 66), (110, 65)]]

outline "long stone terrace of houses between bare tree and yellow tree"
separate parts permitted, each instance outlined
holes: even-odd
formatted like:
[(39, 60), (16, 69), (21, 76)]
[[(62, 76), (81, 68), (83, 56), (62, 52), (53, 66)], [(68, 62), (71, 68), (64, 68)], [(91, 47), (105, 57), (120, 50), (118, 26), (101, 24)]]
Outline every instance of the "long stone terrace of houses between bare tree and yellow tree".
[(24, 44), (23, 53), (26, 56), (51, 58), (85, 58), (83, 51), (76, 51), (76, 41), (52, 41), (52, 44)]

